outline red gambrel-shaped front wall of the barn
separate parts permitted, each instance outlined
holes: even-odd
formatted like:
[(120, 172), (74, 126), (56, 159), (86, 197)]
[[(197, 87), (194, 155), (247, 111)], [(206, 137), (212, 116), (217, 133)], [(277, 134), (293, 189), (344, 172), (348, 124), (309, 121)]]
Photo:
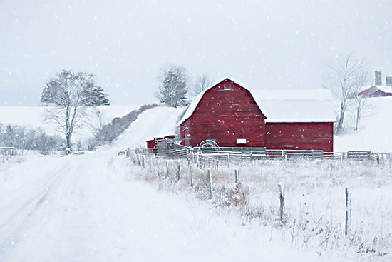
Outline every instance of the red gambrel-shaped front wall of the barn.
[[(230, 90), (227, 90), (230, 88)], [(226, 79), (205, 92), (197, 108), (181, 124), (186, 146), (214, 139), (220, 146), (263, 147), (265, 116), (247, 89)], [(246, 138), (246, 145), (237, 145)]]

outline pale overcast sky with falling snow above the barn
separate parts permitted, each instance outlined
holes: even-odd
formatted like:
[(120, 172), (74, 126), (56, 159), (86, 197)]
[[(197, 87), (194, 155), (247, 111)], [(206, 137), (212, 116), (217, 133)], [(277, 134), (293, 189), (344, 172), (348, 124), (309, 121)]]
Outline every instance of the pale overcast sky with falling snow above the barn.
[(62, 69), (96, 74), (112, 104), (158, 101), (167, 63), (249, 89), (309, 89), (354, 52), (385, 81), (391, 11), (392, 0), (0, 0), (0, 106), (38, 106)]

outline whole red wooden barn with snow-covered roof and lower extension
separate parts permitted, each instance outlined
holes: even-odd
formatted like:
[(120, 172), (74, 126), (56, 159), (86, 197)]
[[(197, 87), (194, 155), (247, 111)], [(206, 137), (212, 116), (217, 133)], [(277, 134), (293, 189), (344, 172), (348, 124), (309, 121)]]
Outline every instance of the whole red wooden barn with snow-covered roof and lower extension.
[[(318, 98), (318, 99), (315, 99)], [(334, 111), (326, 90), (249, 91), (225, 79), (199, 94), (179, 122), (185, 146), (333, 151)]]

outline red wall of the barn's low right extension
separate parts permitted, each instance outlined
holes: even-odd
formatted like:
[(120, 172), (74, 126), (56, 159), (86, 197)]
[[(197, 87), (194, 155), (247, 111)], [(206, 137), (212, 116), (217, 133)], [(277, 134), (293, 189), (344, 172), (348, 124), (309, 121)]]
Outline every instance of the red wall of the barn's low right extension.
[(267, 123), (265, 146), (269, 149), (334, 151), (331, 122)]

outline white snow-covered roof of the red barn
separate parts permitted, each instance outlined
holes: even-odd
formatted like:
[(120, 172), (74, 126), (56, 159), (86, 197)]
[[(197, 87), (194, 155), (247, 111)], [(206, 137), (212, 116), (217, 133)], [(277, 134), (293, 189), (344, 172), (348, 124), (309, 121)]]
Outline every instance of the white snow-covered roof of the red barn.
[[(178, 125), (192, 116), (207, 90), (209, 89), (202, 91), (193, 99)], [(264, 116), (267, 117), (266, 122), (335, 121), (334, 102), (331, 91), (328, 89), (247, 90), (252, 94)]]

